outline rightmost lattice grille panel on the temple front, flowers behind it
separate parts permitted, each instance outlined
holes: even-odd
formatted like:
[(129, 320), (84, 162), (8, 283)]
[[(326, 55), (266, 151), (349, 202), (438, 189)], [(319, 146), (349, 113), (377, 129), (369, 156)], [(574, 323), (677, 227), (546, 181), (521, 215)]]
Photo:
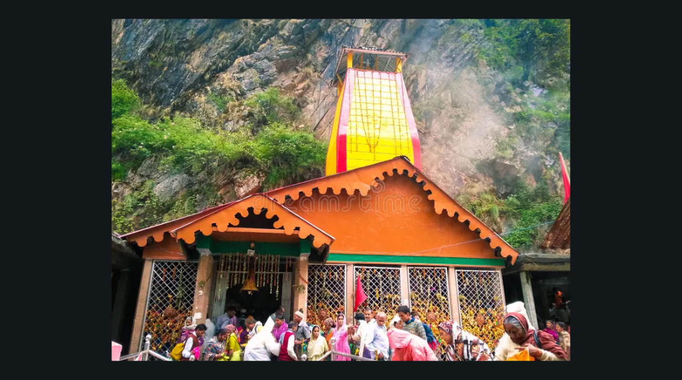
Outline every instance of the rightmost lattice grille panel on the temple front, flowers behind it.
[(494, 351), (505, 330), (505, 300), (499, 270), (455, 271), (462, 328), (488, 343)]

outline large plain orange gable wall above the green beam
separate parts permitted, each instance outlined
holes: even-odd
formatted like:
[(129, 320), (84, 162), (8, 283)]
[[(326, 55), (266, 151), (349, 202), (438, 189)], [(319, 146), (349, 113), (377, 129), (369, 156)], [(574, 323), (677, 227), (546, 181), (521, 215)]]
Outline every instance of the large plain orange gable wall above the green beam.
[[(334, 195), (330, 189), (321, 195), (315, 190), (312, 197), (284, 205), (336, 238), (331, 253), (496, 258), (486, 240), (434, 249), (486, 236), (478, 236), (447, 212), (437, 215), (424, 189), (411, 178), (387, 176), (383, 187), (364, 197), (359, 191), (349, 196), (345, 191)], [(433, 250), (421, 252), (426, 249)]]

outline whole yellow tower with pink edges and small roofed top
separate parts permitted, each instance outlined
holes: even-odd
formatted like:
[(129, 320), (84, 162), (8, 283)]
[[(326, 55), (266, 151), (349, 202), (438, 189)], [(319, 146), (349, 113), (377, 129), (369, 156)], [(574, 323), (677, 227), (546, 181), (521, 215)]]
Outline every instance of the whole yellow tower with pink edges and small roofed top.
[(343, 46), (327, 176), (406, 156), (421, 170), (419, 134), (402, 78), (409, 53)]

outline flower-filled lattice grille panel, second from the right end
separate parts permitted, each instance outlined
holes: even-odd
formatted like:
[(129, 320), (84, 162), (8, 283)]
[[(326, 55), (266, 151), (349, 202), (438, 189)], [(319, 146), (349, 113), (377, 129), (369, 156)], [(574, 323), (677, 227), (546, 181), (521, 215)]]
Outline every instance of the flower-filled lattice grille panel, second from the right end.
[[(408, 268), (410, 286), (410, 309), (417, 311), (421, 321), (431, 328), (436, 341), (441, 341), (439, 323), (450, 320), (450, 298), (447, 290), (447, 268)], [(445, 360), (445, 345), (439, 344), (439, 353)]]

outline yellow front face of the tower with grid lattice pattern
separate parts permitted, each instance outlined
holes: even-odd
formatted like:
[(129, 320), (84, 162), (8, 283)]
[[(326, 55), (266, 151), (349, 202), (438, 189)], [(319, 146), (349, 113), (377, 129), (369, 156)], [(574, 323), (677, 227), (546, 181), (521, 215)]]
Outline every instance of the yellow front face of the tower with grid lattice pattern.
[[(369, 78), (364, 77), (370, 76)], [(384, 74), (385, 75), (385, 74)], [(347, 169), (405, 155), (414, 161), (398, 82), (379, 73), (355, 72), (346, 132)]]

